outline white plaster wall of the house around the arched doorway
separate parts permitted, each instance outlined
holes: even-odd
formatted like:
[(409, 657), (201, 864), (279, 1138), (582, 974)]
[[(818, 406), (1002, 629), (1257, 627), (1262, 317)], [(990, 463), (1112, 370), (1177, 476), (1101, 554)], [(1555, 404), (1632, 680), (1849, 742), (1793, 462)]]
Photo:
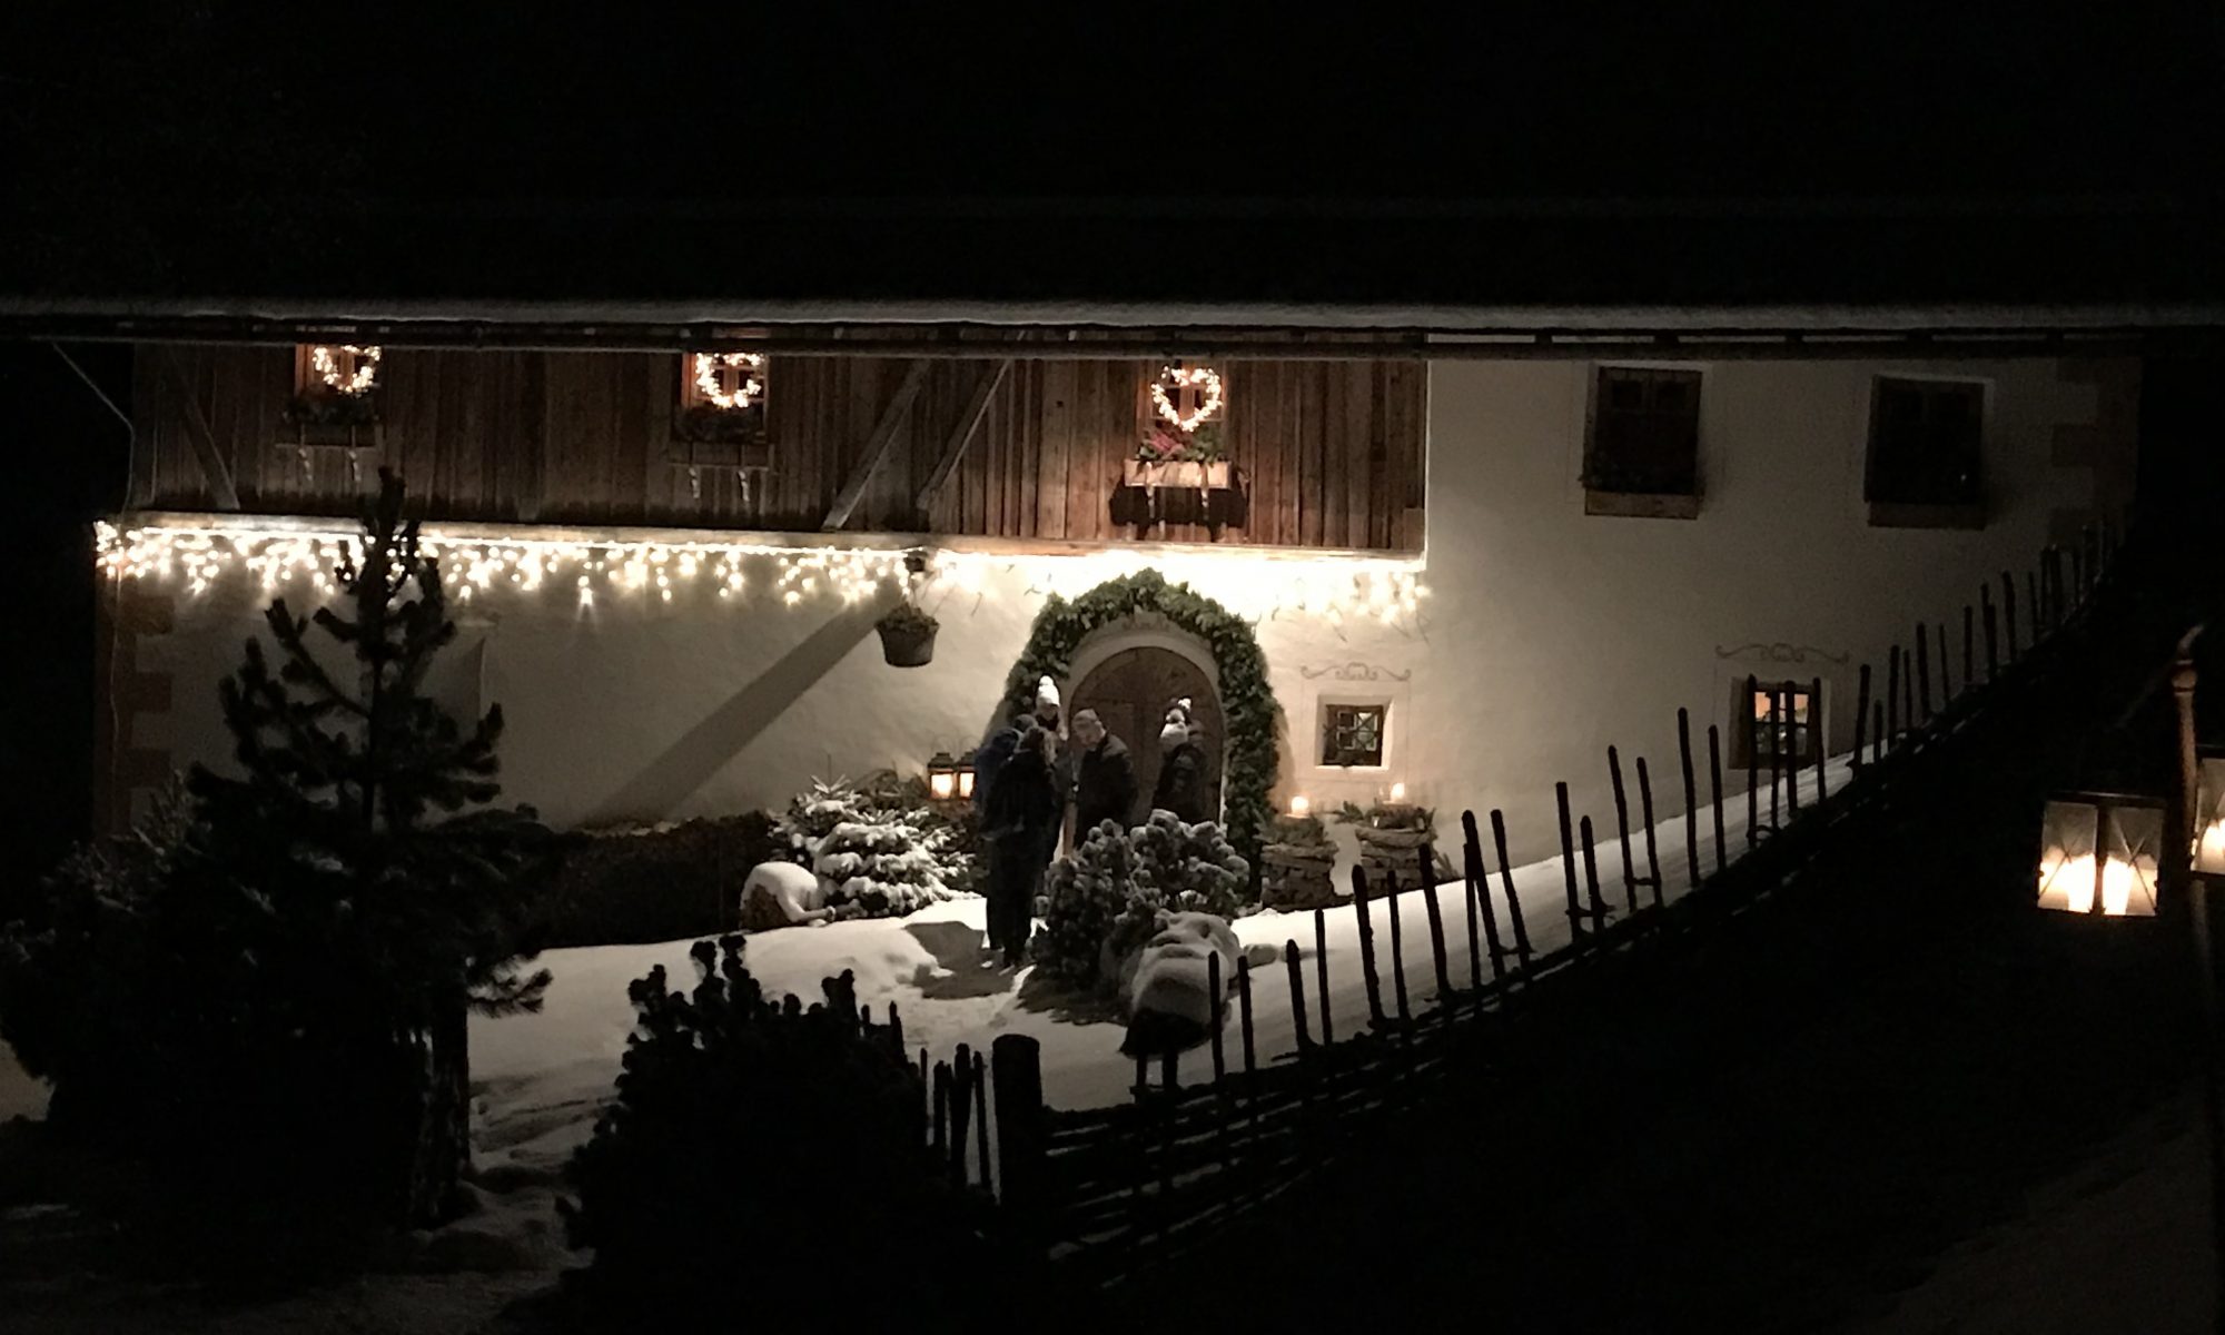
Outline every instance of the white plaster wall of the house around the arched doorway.
[[(1925, 367), (1704, 367), (1702, 514), (1651, 521), (1584, 516), (1589, 363), (1433, 367), (1420, 619), (1259, 623), (1288, 719), (1282, 797), (1366, 801), (1397, 779), (1444, 810), (1504, 808), (1526, 857), (1555, 843), (1555, 779), (1611, 830), (1604, 750), (1618, 743), (1626, 765), (1651, 759), (1655, 805), (1675, 812), (1675, 710), (1693, 710), (1704, 785), (1704, 728), (1727, 721), (1729, 681), (1758, 665), (1718, 650), (1749, 643), (1822, 654), (1782, 672), (1827, 679), (1842, 745), (1853, 665), (1878, 663), (1882, 681), (1885, 647), (1918, 616), (1958, 630), (1976, 585), (2025, 570), (2049, 516), (2092, 505), (2096, 487), (2092, 467), (2051, 463), (2054, 427), (2094, 418), (2092, 385), (2056, 363), (1958, 363), (1934, 369), (1991, 385), (1994, 518), (1980, 532), (1869, 527), (1869, 385), (1887, 369)], [(1213, 578), (1239, 596), (1257, 570)], [(585, 610), (570, 587), (496, 590), (461, 607), (478, 652), (456, 654), (441, 692), (501, 701), (505, 788), (552, 821), (777, 808), (814, 774), (917, 770), (937, 748), (972, 745), (1041, 605), (1024, 570), (992, 572), (979, 596), (930, 594), (937, 659), (894, 670), (872, 634), (879, 607), (788, 607), (754, 565), (750, 581), (741, 599), (705, 581), (672, 603), (603, 596)], [(140, 641), (140, 668), (176, 685), (169, 714), (134, 721), (136, 743), (167, 745), (180, 765), (229, 756), (214, 683), (258, 630), (245, 585), (180, 599), (176, 630)], [(1954, 661), (1960, 672), (1960, 650)], [(1384, 770), (1313, 768), (1317, 701), (1368, 694), (1393, 705)]]

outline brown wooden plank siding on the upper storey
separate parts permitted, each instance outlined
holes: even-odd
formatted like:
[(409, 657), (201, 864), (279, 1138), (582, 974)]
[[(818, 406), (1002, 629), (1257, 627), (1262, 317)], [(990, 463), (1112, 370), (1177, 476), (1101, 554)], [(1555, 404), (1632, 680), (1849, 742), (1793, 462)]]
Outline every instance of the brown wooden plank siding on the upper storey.
[[(171, 356), (167, 380), (156, 356)], [(354, 463), (303, 449), (285, 425), (285, 347), (142, 347), (131, 507), (207, 510), (178, 383), (194, 394), (258, 514), (352, 514), (378, 465), (434, 518), (565, 525), (814, 530), (910, 369), (906, 358), (794, 358), (768, 367), (770, 474), (699, 465), (674, 441), (676, 354), (392, 349), (378, 369), (376, 447)], [(1112, 523), (1121, 467), (1150, 418), (1144, 360), (1015, 360), (957, 469), (914, 510), (990, 363), (937, 360), (901, 414), (850, 532), (1277, 547), (1422, 547), (1428, 369), (1422, 363), (1228, 363), (1224, 443), (1248, 496), (1242, 525)], [(1226, 507), (1217, 505), (1226, 514)]]

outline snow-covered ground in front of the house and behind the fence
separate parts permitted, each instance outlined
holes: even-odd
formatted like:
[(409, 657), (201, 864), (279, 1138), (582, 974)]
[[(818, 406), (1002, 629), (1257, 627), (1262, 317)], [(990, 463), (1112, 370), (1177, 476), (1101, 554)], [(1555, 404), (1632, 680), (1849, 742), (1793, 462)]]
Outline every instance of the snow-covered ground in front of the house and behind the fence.
[[(1847, 761), (1829, 768), (1831, 788), (1847, 783)], [(1813, 799), (1816, 774), (1802, 772), (1800, 790)], [(1669, 797), (1658, 808), (1655, 843), (1662, 868), (1662, 890), (1675, 899), (1689, 890), (1684, 859), (1684, 814)], [(1762, 794), (1767, 821), (1767, 794)], [(1744, 797), (1724, 803), (1724, 852), (1736, 859), (1744, 846)], [(1702, 872), (1715, 866), (1711, 808), (1700, 808), (1695, 821)], [(1611, 817), (1606, 834), (1613, 834)], [(1444, 843), (1457, 850), (1457, 825), (1446, 821)], [(1489, 839), (1489, 834), (1486, 834)], [(1633, 832), (1633, 863), (1646, 872), (1644, 839)], [(1598, 843), (1600, 892), (1615, 906), (1624, 903), (1622, 846)], [(1489, 857), (1489, 852), (1486, 852)], [(1578, 852), (1582, 861), (1582, 852)], [(1339, 868), (1339, 877), (1348, 870)], [(1582, 868), (1578, 868), (1582, 883)], [(1342, 883), (1342, 881), (1339, 881)], [(1500, 877), (1491, 877), (1500, 894)], [(1535, 950), (1553, 950), (1569, 941), (1566, 883), (1562, 859), (1515, 868), (1515, 892)], [(1640, 901), (1649, 892), (1640, 890)], [(1513, 928), (1500, 903), (1502, 939), (1513, 946)], [(1440, 890), (1444, 910), (1446, 966), (1453, 986), (1468, 983), (1468, 923), (1460, 881)], [(1391, 1001), (1391, 919), (1388, 906), (1373, 906), (1375, 952), (1382, 968), (1386, 1006)], [(937, 1059), (950, 1057), (957, 1044), (986, 1050), (997, 1035), (1030, 1035), (1044, 1044), (1044, 1099), (1055, 1108), (1095, 1108), (1128, 1097), (1135, 1064), (1121, 1057), (1121, 1024), (1104, 1008), (1055, 988), (1032, 983), (1032, 970), (1019, 975), (986, 968), (981, 959), (986, 903), (961, 899), (939, 903), (908, 919), (872, 919), (819, 928), (783, 928), (750, 937), (743, 959), (768, 992), (794, 992), (817, 999), (819, 979), (852, 970), (857, 997), (874, 1019), (890, 1003), (903, 1017), (908, 1046), (928, 1048)], [(1435, 970), (1431, 963), (1428, 908), (1420, 892), (1400, 894), (1402, 955), (1406, 986), (1415, 1010), (1431, 1003)], [(1304, 952), (1308, 1024), (1319, 1028), (1319, 997), (1313, 914), (1262, 912), (1235, 923), (1244, 946), (1268, 946), (1282, 952), (1297, 941)], [(1366, 1024), (1366, 983), (1359, 963), (1359, 921), (1351, 903), (1326, 912), (1331, 1017), (1337, 1035), (1351, 1035)], [(478, 1144), (483, 1161), (516, 1164), (523, 1175), (556, 1168), (585, 1141), (594, 1128), (596, 1108), (610, 1097), (625, 1055), (625, 1037), (634, 1010), (625, 983), (663, 963), (676, 983), (692, 986), (694, 966), (688, 959), (692, 941), (659, 946), (596, 946), (550, 950), (541, 963), (554, 972), (547, 1006), (538, 1015), (514, 1015), (474, 1021), (472, 1072), (481, 1081)], [(1489, 966), (1486, 966), (1489, 968)], [(1290, 1015), (1290, 990), (1284, 968), (1255, 968), (1253, 1024), (1262, 1061), (1297, 1050), (1297, 1026)], [(1230, 1052), (1233, 1059), (1233, 1052)], [(1184, 1061), (1188, 1079), (1204, 1075), (1206, 1057)]]

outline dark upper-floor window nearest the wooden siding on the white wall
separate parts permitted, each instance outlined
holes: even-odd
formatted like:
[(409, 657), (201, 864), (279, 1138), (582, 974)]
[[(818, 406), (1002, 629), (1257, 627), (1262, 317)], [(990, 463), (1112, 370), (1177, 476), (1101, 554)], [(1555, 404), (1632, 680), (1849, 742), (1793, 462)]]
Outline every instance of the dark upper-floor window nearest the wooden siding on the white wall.
[(1584, 441), (1584, 512), (1700, 514), (1700, 372), (1600, 367)]

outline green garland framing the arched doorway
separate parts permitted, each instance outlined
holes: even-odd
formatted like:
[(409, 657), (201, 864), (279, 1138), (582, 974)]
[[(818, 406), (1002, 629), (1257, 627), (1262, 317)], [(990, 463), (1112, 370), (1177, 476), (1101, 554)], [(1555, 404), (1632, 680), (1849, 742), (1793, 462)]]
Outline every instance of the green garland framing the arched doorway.
[(1268, 792), (1275, 788), (1275, 714), (1282, 705), (1275, 703), (1275, 688), (1266, 679), (1266, 654), (1259, 652), (1259, 639), (1248, 621), (1186, 583), (1168, 583), (1157, 570), (1108, 578), (1072, 601), (1052, 594), (1035, 614), (1028, 647), (1003, 679), (1003, 699), (1035, 694), (1041, 676), (1066, 681), (1084, 636), (1137, 612), (1157, 612), (1213, 650), (1228, 721), (1222, 823), (1228, 841), (1250, 861), (1257, 886), (1259, 837), (1268, 819)]

